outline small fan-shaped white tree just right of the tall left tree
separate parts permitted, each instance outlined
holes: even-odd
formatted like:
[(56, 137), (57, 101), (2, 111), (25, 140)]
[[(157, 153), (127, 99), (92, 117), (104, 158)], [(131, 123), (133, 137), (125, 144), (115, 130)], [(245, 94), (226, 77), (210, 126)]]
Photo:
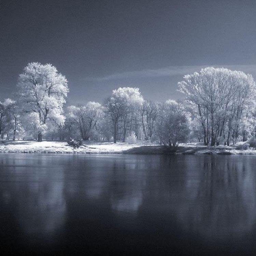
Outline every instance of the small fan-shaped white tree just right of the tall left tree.
[(89, 140), (91, 131), (96, 129), (96, 124), (102, 112), (100, 103), (89, 101), (85, 106), (69, 106), (68, 117), (80, 131), (82, 140)]

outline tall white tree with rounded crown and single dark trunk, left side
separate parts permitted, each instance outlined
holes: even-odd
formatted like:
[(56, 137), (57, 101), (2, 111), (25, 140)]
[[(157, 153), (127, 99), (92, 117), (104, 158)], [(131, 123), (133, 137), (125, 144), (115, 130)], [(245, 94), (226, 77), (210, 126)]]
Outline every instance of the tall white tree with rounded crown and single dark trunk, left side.
[[(63, 104), (68, 94), (68, 81), (51, 64), (29, 63), (19, 75), (18, 96), (27, 113), (31, 128), (38, 131), (38, 141), (49, 123), (63, 125)], [(30, 120), (30, 121), (29, 121)]]

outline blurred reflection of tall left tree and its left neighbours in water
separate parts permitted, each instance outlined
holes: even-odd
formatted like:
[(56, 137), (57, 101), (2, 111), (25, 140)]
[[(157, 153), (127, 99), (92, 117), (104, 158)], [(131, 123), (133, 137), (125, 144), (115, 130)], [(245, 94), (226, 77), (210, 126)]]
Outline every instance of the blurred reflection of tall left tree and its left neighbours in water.
[(3, 158), (0, 172), (4, 208), (15, 211), (15, 218), (29, 240), (37, 235), (47, 235), (50, 239), (65, 221), (61, 169), (59, 171), (56, 164), (52, 165), (51, 160), (41, 156), (39, 159), (8, 156)]

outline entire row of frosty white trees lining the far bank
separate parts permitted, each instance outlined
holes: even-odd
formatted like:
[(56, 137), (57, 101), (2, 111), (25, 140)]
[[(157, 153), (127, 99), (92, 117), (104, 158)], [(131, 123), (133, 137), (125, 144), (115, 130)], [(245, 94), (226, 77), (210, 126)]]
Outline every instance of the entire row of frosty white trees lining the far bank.
[(64, 75), (51, 64), (29, 63), (19, 75), (16, 100), (0, 102), (0, 136), (13, 140), (42, 138), (176, 146), (188, 140), (229, 145), (255, 136), (255, 82), (251, 75), (205, 68), (184, 76), (184, 100), (145, 100), (139, 88), (112, 91), (103, 104), (66, 106)]

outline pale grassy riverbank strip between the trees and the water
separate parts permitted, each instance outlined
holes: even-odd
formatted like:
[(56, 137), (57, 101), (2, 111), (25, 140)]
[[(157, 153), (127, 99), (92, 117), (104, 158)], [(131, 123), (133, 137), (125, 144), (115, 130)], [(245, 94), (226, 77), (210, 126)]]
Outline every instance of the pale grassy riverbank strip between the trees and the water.
[(80, 153), (80, 154), (256, 154), (254, 148), (238, 150), (237, 146), (203, 146), (196, 143), (181, 144), (178, 147), (169, 148), (153, 144), (128, 144), (118, 142), (85, 142), (80, 148), (73, 148), (67, 142), (60, 141), (1, 141), (0, 153)]

